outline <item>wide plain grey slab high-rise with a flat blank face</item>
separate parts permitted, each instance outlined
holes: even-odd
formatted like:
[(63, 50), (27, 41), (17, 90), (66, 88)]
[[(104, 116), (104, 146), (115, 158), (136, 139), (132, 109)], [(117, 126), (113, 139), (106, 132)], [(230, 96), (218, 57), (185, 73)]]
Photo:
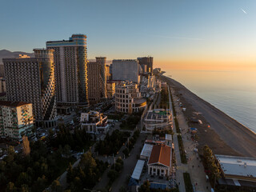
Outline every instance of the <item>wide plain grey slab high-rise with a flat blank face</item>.
[(131, 81), (138, 83), (138, 61), (135, 59), (113, 60), (112, 79), (118, 81)]

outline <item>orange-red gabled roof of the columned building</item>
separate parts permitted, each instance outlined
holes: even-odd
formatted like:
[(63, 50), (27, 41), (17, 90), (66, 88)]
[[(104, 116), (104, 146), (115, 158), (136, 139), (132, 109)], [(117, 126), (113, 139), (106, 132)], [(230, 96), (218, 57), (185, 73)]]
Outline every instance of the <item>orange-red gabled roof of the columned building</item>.
[(170, 146), (165, 146), (165, 145), (153, 146), (148, 164), (158, 163), (164, 166), (170, 166), (170, 154), (171, 154)]

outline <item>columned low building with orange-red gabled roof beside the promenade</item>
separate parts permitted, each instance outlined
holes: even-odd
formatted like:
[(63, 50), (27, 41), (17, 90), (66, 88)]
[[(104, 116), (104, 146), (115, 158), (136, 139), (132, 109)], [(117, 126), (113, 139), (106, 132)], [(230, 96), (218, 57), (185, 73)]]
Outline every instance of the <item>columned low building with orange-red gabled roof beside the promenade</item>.
[(166, 145), (153, 146), (147, 166), (150, 175), (170, 176), (171, 147)]

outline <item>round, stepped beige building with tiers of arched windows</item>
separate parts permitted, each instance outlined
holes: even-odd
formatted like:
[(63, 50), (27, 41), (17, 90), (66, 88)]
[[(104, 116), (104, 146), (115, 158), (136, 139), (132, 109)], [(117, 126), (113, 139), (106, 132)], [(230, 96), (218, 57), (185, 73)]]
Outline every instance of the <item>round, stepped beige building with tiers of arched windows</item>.
[(141, 97), (138, 84), (120, 83), (115, 87), (115, 110), (132, 114), (146, 108), (146, 99)]

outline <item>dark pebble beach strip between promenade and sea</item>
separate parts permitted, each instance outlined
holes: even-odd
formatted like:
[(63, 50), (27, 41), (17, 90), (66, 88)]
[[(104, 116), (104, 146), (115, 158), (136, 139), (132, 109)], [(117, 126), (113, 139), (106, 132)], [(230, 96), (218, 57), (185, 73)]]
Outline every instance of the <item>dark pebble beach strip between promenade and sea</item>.
[[(194, 116), (194, 112), (202, 113), (198, 115), (198, 118), (202, 118), (204, 122), (203, 126), (199, 126), (198, 132), (202, 136), (202, 138), (199, 136), (199, 145), (212, 146), (215, 154), (234, 155), (237, 153), (236, 155), (241, 154), (242, 156), (256, 158), (256, 134), (253, 130), (231, 118), (210, 102), (198, 97), (173, 78), (165, 75), (160, 77), (166, 79), (178, 98), (181, 98), (181, 102), (183, 100), (182, 104), (185, 102), (186, 109), (190, 111), (183, 114), (188, 119)], [(206, 123), (210, 124), (210, 128), (206, 128)], [(207, 131), (211, 133), (207, 134)], [(223, 143), (226, 145), (223, 145)]]

